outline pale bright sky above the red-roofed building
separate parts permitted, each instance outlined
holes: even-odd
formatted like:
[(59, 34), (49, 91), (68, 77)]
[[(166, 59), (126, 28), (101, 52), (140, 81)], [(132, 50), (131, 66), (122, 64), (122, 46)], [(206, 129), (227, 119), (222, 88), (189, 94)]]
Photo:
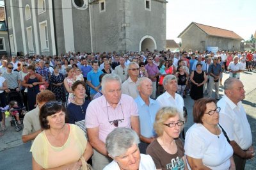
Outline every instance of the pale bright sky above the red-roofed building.
[(166, 39), (177, 38), (191, 22), (234, 31), (249, 40), (256, 31), (255, 0), (166, 0)]

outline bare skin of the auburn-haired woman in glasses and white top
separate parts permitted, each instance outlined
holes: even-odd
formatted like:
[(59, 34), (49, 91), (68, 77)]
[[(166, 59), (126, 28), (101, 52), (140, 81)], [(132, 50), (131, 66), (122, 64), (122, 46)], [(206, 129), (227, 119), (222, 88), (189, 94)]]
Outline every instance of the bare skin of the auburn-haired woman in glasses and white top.
[[(207, 130), (209, 130), (209, 132), (211, 132), (212, 134), (220, 135), (221, 129), (217, 126), (220, 118), (219, 113), (214, 111), (214, 114), (212, 115), (207, 114), (209, 111), (215, 110), (216, 107), (217, 106), (214, 102), (206, 104), (206, 110), (204, 112), (205, 114), (202, 117), (202, 125), (204, 125), (204, 127), (207, 128)], [(186, 155), (186, 158), (191, 169), (210, 169), (203, 164), (202, 158), (193, 158), (189, 157), (188, 155)], [(233, 157), (230, 157), (230, 170), (231, 169), (236, 169)]]

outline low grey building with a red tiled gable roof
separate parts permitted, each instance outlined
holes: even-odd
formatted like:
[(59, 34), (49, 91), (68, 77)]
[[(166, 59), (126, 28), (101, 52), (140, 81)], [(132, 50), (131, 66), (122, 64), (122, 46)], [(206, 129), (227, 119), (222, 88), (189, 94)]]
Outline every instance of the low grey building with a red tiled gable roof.
[(191, 22), (178, 37), (182, 39), (182, 49), (200, 51), (207, 50), (207, 47), (218, 47), (218, 50), (240, 50), (243, 40), (233, 31), (196, 22)]

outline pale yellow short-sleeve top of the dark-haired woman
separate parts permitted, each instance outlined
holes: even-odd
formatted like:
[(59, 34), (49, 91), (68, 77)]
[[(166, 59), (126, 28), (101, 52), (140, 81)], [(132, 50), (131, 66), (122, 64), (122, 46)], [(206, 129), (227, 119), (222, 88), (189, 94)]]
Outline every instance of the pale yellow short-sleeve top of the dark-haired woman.
[(37, 135), (30, 151), (36, 163), (44, 169), (77, 162), (83, 155), (87, 144), (83, 130), (76, 125), (68, 124), (68, 126), (70, 128), (68, 139), (61, 147), (49, 143), (45, 130)]

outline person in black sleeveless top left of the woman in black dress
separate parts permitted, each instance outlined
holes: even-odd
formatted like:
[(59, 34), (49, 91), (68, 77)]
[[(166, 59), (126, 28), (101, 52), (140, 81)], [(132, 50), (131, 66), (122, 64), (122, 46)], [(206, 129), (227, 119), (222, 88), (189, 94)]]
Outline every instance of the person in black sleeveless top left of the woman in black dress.
[(177, 93), (183, 97), (184, 95), (184, 90), (186, 88), (186, 85), (188, 85), (188, 73), (184, 71), (185, 66), (178, 66), (177, 67), (177, 72), (176, 72), (176, 77), (178, 79), (178, 91)]

